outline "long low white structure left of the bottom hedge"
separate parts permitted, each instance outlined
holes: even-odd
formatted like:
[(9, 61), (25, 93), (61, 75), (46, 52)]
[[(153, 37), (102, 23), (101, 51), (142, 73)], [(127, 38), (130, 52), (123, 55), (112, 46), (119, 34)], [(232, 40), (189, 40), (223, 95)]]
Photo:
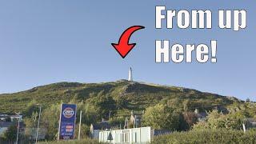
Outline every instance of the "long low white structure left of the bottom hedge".
[[(110, 134), (111, 133), (111, 134)], [(111, 143), (149, 143), (153, 137), (153, 133), (150, 127), (140, 127), (134, 129), (124, 130), (105, 130), (99, 132), (99, 142), (110, 142)]]

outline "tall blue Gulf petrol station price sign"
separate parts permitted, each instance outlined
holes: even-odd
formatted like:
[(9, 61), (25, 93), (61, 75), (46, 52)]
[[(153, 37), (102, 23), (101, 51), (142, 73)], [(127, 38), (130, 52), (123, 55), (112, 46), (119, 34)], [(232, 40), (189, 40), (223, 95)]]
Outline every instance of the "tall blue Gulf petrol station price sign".
[(74, 104), (62, 104), (61, 120), (59, 123), (59, 139), (74, 139), (74, 128), (77, 106)]

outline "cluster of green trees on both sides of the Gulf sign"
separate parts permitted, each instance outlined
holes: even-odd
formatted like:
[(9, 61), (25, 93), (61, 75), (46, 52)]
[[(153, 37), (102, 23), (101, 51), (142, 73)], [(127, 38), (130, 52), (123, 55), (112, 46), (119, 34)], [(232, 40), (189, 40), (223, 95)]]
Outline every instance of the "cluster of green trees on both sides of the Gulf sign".
[[(27, 128), (36, 128), (38, 124), (38, 102), (31, 101), (24, 111), (24, 122)], [(40, 128), (46, 129), (46, 139), (53, 140), (58, 135), (58, 118), (60, 113), (60, 105), (53, 104), (50, 106), (42, 107), (42, 114), (40, 120)], [(98, 122), (101, 118), (107, 118), (109, 111), (121, 108), (125, 105), (122, 98), (112, 98), (108, 94), (104, 94), (101, 91), (98, 94), (90, 94), (90, 98), (85, 101), (73, 98), (68, 103), (77, 104), (77, 125), (80, 117), (80, 111), (82, 111), (82, 134), (81, 137), (85, 138), (89, 135), (90, 124)], [(78, 130), (78, 129), (76, 129)], [(78, 133), (77, 133), (78, 134)]]

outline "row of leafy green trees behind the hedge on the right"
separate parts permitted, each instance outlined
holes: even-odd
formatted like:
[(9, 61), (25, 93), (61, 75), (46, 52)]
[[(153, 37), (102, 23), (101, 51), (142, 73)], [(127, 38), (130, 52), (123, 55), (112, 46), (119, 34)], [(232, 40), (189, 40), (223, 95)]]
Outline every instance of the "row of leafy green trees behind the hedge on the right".
[(245, 110), (222, 114), (218, 110), (208, 112), (205, 121), (198, 122), (193, 112), (181, 112), (166, 105), (157, 104), (146, 108), (143, 115), (143, 126), (152, 126), (162, 130), (204, 130), (226, 129), (242, 130), (242, 124), (248, 115)]

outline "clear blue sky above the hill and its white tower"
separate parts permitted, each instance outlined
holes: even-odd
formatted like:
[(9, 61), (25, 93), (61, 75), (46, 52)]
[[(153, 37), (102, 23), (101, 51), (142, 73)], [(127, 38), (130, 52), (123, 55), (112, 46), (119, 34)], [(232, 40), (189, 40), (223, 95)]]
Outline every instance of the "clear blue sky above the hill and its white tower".
[[(212, 30), (156, 30), (154, 6), (212, 10)], [(218, 29), (218, 10), (247, 10), (247, 28)], [(256, 1), (0, 1), (0, 93), (53, 82), (109, 82), (128, 77), (256, 100)], [(122, 59), (110, 45), (129, 26), (146, 26), (130, 38), (137, 45)], [(156, 39), (218, 40), (218, 62), (157, 64)]]

